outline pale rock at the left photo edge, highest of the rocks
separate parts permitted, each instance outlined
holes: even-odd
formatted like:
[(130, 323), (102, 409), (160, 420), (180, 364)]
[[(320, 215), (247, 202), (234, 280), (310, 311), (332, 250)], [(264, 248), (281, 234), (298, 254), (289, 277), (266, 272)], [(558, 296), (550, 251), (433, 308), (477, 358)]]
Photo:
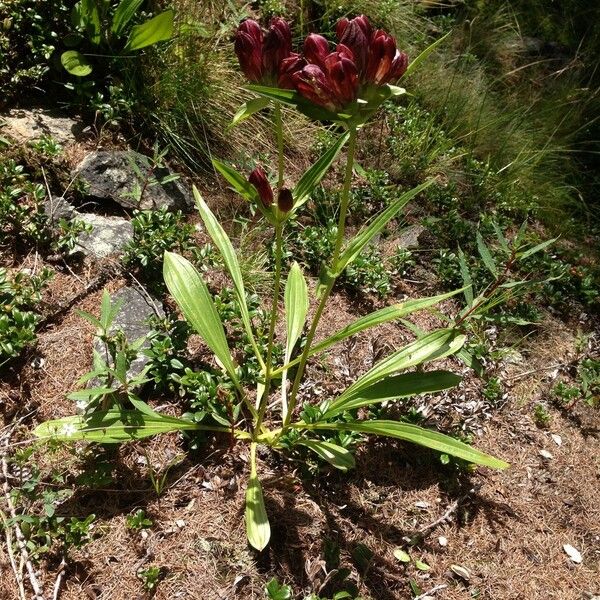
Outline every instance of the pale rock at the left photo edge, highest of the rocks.
[(15, 109), (3, 118), (2, 132), (22, 143), (49, 135), (64, 145), (81, 137), (83, 124), (54, 111)]

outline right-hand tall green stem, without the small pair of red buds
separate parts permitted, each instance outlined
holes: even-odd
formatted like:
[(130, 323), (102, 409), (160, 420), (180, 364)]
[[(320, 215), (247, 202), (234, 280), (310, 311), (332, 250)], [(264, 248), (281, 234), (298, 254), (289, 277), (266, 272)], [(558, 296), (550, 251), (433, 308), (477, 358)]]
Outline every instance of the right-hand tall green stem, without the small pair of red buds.
[(296, 371), (296, 377), (294, 378), (294, 383), (292, 385), (292, 391), (290, 393), (290, 399), (288, 404), (288, 412), (283, 423), (282, 432), (285, 431), (285, 429), (289, 426), (291, 422), (294, 409), (296, 408), (300, 382), (302, 381), (302, 376), (304, 375), (304, 371), (306, 369), (306, 363), (310, 355), (310, 350), (315, 334), (317, 332), (317, 327), (319, 326), (319, 321), (321, 320), (321, 316), (323, 315), (323, 311), (325, 310), (325, 305), (327, 304), (327, 300), (329, 299), (329, 294), (331, 294), (331, 290), (333, 289), (333, 285), (335, 283), (335, 280), (337, 279), (337, 262), (340, 257), (340, 252), (342, 250), (342, 244), (344, 242), (344, 233), (346, 230), (346, 215), (348, 213), (348, 202), (350, 200), (350, 186), (352, 185), (352, 170), (354, 168), (354, 155), (356, 152), (356, 136), (357, 130), (355, 128), (351, 129), (350, 139), (348, 141), (348, 155), (346, 158), (346, 173), (344, 176), (344, 187), (342, 188), (342, 198), (340, 203), (340, 217), (338, 220), (337, 238), (335, 241), (333, 256), (331, 258), (331, 271), (333, 273), (336, 273), (336, 275), (330, 278), (325, 290), (323, 291), (321, 300), (319, 301), (319, 305), (315, 312), (315, 316), (313, 317), (310, 329), (308, 331), (308, 335), (306, 336), (306, 343), (304, 345), (304, 350), (300, 357), (298, 370)]

